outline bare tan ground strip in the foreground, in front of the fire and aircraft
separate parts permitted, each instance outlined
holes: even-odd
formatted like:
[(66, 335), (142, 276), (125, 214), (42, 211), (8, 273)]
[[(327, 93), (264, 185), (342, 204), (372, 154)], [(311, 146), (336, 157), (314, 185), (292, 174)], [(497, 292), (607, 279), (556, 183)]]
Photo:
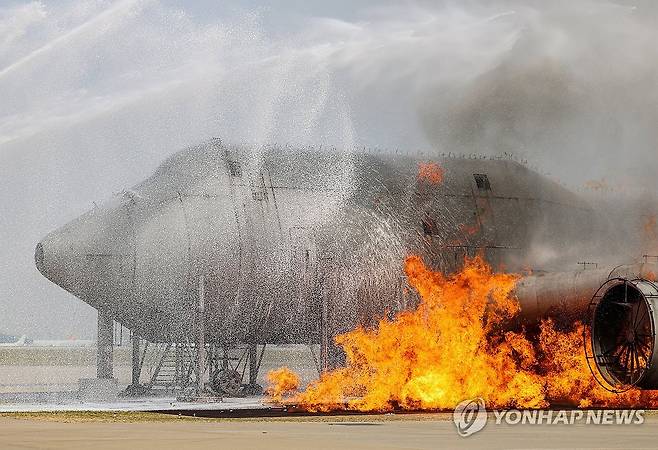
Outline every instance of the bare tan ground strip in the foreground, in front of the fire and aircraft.
[[(124, 413), (125, 414), (125, 413)], [(136, 416), (139, 420), (139, 416)], [(510, 426), (488, 424), (468, 438), (450, 415), (413, 419), (360, 418), (162, 422), (62, 422), (63, 417), (0, 417), (0, 447), (46, 449), (436, 449), (436, 448), (656, 448), (658, 418), (642, 425)], [(110, 418), (111, 419), (111, 418)], [(78, 420), (78, 419), (75, 419)]]

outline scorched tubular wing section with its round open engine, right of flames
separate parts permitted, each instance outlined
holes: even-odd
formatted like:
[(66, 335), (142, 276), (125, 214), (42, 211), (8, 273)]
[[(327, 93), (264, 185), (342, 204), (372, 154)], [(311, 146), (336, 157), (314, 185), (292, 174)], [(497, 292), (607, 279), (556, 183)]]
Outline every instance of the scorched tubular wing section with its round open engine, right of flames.
[(644, 263), (525, 277), (516, 288), (521, 322), (585, 319), (587, 362), (603, 387), (658, 389), (656, 273)]

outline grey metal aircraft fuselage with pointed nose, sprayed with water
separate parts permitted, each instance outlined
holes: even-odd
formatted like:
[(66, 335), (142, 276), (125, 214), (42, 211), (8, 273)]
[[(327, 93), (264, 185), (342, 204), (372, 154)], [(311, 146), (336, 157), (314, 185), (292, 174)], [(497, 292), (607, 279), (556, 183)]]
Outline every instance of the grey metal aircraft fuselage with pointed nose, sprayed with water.
[[(438, 175), (437, 175), (438, 174)], [(51, 281), (151, 341), (312, 343), (413, 307), (404, 259), (559, 268), (592, 209), (510, 160), (226, 146), (183, 150), (37, 246)], [(547, 256), (546, 249), (550, 249)], [(573, 261), (572, 261), (573, 262)]]

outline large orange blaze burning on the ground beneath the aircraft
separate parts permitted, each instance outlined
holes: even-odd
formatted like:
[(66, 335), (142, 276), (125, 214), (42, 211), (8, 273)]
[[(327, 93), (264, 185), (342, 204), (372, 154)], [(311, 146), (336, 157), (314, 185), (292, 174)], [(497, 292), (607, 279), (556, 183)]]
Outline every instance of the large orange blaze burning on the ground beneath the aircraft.
[[(412, 256), (405, 272), (419, 306), (338, 336), (345, 367), (324, 373), (302, 392), (288, 390), (287, 402), (311, 411), (451, 409), (475, 397), (494, 408), (658, 405), (652, 393), (613, 394), (598, 385), (580, 324), (565, 331), (547, 320), (535, 333), (505, 331), (519, 311), (518, 275), (494, 273), (477, 257), (446, 276)], [(271, 386), (285, 384), (280, 377), (291, 375), (271, 372)]]

